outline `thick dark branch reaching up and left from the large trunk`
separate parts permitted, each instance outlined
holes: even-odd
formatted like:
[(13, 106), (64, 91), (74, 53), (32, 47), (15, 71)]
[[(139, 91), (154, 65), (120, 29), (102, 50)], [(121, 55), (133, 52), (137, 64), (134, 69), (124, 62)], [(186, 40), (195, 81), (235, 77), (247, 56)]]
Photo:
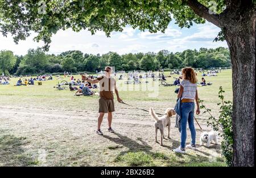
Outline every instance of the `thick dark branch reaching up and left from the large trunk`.
[(209, 9), (197, 0), (188, 0), (185, 3), (187, 3), (187, 5), (194, 11), (195, 14), (221, 28), (218, 14), (209, 14)]

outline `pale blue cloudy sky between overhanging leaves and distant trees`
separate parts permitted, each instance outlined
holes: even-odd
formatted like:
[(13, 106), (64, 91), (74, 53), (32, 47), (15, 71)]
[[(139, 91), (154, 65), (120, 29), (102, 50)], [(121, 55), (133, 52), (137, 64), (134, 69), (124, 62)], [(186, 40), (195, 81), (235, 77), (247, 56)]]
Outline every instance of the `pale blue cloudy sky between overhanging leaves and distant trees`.
[[(226, 42), (213, 42), (213, 39), (220, 32), (220, 28), (211, 23), (194, 24), (191, 28), (180, 28), (172, 21), (166, 32), (151, 34), (148, 31), (139, 31), (129, 26), (123, 32), (112, 32), (107, 38), (104, 32), (97, 32), (91, 35), (89, 31), (73, 32), (72, 30), (58, 31), (53, 35), (51, 47), (47, 53), (56, 55), (68, 50), (80, 50), (84, 53), (107, 53), (109, 51), (124, 53), (137, 52), (158, 52), (167, 49), (171, 52), (180, 52), (185, 49), (199, 49), (228, 47)], [(26, 41), (16, 45), (11, 36), (7, 38), (0, 35), (0, 50), (8, 49), (15, 55), (25, 55), (29, 48), (36, 48), (43, 45), (42, 42), (33, 42), (32, 34)]]

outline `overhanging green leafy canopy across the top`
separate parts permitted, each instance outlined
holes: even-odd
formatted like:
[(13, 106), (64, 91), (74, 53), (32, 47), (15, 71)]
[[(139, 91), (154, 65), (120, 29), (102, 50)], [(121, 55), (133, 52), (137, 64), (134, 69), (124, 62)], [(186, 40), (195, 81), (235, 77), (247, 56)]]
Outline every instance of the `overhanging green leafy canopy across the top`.
[[(122, 31), (130, 25), (150, 32), (166, 30), (174, 18), (180, 27), (191, 27), (193, 22), (204, 23), (187, 6), (187, 0), (0, 0), (0, 30), (4, 36), (13, 35), (15, 43), (25, 40), (31, 31), (43, 40), (48, 50), (52, 34), (72, 28), (73, 31), (89, 30), (92, 34), (104, 31), (110, 36), (112, 31)], [(209, 1), (201, 4), (211, 7)], [(224, 0), (216, 0), (217, 13), (224, 9)]]

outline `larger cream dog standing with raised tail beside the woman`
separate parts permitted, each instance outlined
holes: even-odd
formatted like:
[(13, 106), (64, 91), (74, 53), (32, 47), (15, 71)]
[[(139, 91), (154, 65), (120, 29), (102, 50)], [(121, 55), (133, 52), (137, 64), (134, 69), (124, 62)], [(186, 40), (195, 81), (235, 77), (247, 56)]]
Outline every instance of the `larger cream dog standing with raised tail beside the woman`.
[(160, 138), (160, 145), (163, 145), (163, 139), (164, 139), (164, 127), (168, 126), (168, 138), (170, 138), (170, 129), (171, 129), (171, 117), (172, 115), (175, 115), (176, 112), (173, 108), (168, 107), (166, 109), (165, 115), (162, 117), (158, 117), (158, 115), (155, 114), (155, 111), (150, 107), (150, 115), (152, 118), (155, 119), (155, 142), (158, 143), (158, 129), (161, 133)]

